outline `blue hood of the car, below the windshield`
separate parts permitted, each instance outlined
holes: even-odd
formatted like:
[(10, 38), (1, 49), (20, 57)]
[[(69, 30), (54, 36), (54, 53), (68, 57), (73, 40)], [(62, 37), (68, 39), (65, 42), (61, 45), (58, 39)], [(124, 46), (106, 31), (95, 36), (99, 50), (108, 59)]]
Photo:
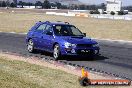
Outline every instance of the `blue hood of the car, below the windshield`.
[(72, 44), (97, 44), (96, 41), (87, 38), (87, 37), (60, 37), (66, 42), (72, 43)]

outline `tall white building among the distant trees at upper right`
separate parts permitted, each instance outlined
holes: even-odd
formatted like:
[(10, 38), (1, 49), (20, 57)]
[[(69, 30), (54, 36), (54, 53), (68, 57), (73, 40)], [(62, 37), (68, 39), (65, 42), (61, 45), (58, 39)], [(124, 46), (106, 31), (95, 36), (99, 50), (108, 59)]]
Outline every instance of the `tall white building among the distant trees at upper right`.
[(110, 13), (111, 11), (117, 12), (121, 11), (122, 2), (121, 0), (106, 0), (107, 6), (106, 11), (107, 13)]

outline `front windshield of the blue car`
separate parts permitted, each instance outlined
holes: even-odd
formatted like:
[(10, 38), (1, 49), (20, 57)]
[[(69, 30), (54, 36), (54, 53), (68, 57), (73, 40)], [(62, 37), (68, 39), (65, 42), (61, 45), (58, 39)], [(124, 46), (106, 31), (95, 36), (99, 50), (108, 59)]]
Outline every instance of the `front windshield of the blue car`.
[(56, 36), (84, 36), (84, 34), (73, 25), (54, 25)]

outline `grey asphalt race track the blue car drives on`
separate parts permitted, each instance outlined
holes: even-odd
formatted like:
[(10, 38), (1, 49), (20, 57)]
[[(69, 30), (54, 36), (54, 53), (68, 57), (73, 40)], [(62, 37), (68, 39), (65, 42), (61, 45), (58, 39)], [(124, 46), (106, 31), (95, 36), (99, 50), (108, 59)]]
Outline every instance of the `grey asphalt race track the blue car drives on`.
[[(61, 61), (113, 73), (132, 80), (132, 43), (97, 41), (101, 47), (101, 56), (96, 57), (94, 60), (67, 57)], [(46, 52), (28, 53), (25, 35), (23, 34), (0, 32), (0, 51), (19, 53), (24, 56), (37, 55), (39, 57), (52, 58), (51, 54), (47, 54)]]

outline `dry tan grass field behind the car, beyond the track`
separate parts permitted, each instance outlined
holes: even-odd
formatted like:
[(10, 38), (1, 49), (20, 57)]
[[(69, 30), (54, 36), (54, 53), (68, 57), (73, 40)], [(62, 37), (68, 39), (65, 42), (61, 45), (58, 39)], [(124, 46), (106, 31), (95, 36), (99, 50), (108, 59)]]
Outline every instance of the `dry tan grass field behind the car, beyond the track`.
[(37, 21), (66, 21), (99, 39), (132, 41), (132, 21), (49, 16), (42, 13), (0, 13), (0, 31), (27, 32)]

